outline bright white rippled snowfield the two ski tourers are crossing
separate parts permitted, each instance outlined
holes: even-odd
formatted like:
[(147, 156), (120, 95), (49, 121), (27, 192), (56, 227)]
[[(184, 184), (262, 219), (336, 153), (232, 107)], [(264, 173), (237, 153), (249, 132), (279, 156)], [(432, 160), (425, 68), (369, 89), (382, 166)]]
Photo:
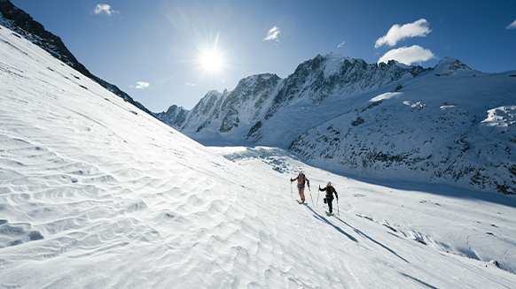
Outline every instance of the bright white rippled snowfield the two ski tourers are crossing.
[(203, 147), (5, 27), (0, 103), (1, 287), (516, 287), (513, 196)]

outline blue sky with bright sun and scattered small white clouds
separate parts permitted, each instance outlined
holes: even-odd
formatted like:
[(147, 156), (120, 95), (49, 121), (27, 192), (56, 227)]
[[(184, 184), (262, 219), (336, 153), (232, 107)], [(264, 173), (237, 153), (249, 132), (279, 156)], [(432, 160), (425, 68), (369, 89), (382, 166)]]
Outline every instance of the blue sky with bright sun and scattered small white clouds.
[(432, 67), (516, 70), (516, 1), (11, 0), (90, 72), (152, 111), (337, 52)]

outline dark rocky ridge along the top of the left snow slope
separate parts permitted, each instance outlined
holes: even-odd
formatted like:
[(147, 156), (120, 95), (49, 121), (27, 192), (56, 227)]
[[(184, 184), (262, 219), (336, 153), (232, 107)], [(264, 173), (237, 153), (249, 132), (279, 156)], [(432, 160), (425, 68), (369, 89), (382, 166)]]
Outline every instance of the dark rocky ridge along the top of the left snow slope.
[(42, 24), (36, 22), (32, 17), (30, 17), (30, 15), (14, 6), (9, 0), (0, 0), (0, 24), (4, 27), (9, 27), (17, 34), (26, 37), (30, 42), (35, 43), (35, 45), (49, 52), (53, 57), (58, 58), (66, 65), (70, 65), (77, 72), (81, 72), (84, 76), (94, 80), (102, 87), (105, 87), (107, 90), (113, 92), (113, 94), (120, 96), (128, 103), (132, 103), (140, 110), (144, 110), (151, 114), (151, 111), (147, 110), (143, 104), (133, 100), (132, 97), (121, 91), (119, 87), (116, 87), (106, 80), (98, 78), (88, 71), (88, 69), (79, 63), (74, 55), (66, 49), (65, 43), (61, 41), (59, 36), (46, 31)]

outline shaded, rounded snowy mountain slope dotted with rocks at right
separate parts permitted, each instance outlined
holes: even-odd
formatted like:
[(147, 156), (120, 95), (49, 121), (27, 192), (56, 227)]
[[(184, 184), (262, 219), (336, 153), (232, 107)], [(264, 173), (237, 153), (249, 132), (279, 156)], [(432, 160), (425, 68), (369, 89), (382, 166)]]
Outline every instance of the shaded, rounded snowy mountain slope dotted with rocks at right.
[(396, 90), (361, 96), (290, 148), (332, 171), (516, 194), (513, 74), (444, 58)]

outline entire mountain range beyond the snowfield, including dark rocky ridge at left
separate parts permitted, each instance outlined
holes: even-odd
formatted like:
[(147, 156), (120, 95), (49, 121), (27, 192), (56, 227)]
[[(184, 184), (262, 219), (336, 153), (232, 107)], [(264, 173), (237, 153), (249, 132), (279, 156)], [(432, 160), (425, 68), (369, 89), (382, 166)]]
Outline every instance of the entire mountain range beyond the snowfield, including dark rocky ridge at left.
[(516, 194), (516, 71), (478, 72), (450, 57), (423, 68), (330, 53), (285, 79), (249, 76), (192, 110), (154, 113), (90, 73), (25, 11), (0, 0), (0, 13), (17, 36), (205, 145), (286, 148), (350, 176)]

